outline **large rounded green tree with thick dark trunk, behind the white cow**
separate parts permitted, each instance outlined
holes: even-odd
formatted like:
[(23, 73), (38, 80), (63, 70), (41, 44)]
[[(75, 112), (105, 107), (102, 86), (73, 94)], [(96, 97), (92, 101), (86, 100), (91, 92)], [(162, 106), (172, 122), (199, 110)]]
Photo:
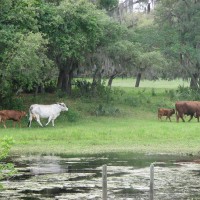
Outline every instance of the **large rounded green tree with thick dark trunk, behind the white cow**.
[(57, 86), (70, 94), (74, 71), (89, 59), (90, 67), (99, 68), (96, 55), (117, 37), (119, 24), (84, 0), (64, 0), (58, 6), (45, 5), (42, 11), (40, 30), (49, 39), (49, 55), (59, 70)]

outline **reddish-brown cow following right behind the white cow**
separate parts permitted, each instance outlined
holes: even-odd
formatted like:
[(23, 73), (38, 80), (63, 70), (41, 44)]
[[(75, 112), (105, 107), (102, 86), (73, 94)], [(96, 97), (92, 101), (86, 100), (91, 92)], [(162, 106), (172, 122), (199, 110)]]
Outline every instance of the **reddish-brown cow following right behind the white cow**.
[(0, 122), (4, 124), (4, 128), (6, 127), (6, 120), (12, 120), (13, 126), (15, 127), (16, 122), (21, 127), (21, 118), (26, 116), (26, 112), (24, 111), (17, 111), (17, 110), (1, 110), (0, 111)]

